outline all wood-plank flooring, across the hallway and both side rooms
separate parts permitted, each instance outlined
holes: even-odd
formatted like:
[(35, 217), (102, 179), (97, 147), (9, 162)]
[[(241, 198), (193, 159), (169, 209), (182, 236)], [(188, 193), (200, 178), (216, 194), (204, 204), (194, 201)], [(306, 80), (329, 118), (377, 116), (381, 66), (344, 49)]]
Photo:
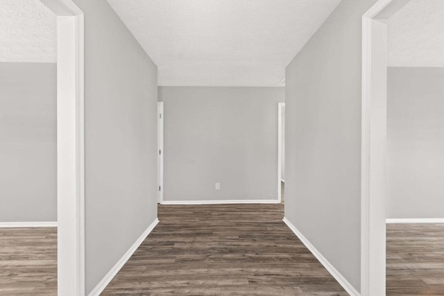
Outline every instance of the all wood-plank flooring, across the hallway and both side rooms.
[[(283, 204), (159, 206), (102, 295), (347, 295)], [(57, 295), (57, 229), (0, 228), (0, 295)], [(387, 225), (387, 295), (444, 295), (444, 224)]]

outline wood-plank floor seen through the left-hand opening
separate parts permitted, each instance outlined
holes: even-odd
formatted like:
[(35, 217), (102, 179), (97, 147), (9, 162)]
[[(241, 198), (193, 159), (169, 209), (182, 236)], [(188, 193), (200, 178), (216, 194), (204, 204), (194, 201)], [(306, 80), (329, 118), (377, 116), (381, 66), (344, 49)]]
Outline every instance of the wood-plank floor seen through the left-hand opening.
[(0, 228), (0, 295), (57, 295), (57, 228)]

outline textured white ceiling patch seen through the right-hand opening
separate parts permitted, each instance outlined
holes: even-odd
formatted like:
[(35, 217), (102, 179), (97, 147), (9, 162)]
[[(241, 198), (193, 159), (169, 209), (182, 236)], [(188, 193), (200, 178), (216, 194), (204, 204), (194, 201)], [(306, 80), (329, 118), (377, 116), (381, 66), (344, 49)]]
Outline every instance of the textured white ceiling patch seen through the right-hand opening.
[(412, 0), (388, 19), (389, 67), (444, 67), (444, 0)]

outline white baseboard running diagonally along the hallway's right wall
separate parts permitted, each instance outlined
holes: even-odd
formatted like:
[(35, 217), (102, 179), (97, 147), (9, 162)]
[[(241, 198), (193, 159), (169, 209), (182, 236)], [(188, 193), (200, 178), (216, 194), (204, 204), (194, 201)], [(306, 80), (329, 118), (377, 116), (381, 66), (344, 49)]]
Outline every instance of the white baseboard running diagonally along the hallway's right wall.
[(309, 240), (299, 232), (299, 230), (296, 228), (296, 226), (293, 225), (293, 223), (291, 223), (287, 218), (284, 218), (282, 220), (285, 224), (287, 224), (289, 229), (291, 229), (291, 231), (296, 234), (296, 236), (298, 236), (300, 241), (302, 241), (302, 243), (305, 245), (305, 247), (307, 247), (311, 254), (313, 254), (319, 262), (321, 262), (325, 269), (330, 272), (330, 275), (332, 275), (334, 279), (338, 281), (338, 283), (342, 286), (342, 288), (345, 289), (345, 291), (347, 291), (348, 294), (350, 294), (351, 296), (360, 296), (360, 293), (352, 286), (352, 284), (350, 284), (347, 279), (345, 279), (345, 277), (343, 277), (343, 275), (341, 275), (341, 273), (336, 270), (336, 268), (334, 268), (334, 266), (329, 261), (327, 261), (327, 259), (325, 259), (325, 257), (318, 250), (316, 250), (316, 247), (314, 247), (314, 245), (311, 245)]

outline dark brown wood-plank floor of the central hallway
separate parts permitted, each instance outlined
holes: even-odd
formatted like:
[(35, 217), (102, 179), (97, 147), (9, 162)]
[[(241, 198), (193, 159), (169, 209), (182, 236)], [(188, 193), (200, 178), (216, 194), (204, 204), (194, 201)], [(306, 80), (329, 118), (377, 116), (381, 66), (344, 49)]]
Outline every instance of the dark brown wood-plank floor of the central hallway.
[(347, 295), (283, 215), (283, 204), (160, 205), (102, 295)]

